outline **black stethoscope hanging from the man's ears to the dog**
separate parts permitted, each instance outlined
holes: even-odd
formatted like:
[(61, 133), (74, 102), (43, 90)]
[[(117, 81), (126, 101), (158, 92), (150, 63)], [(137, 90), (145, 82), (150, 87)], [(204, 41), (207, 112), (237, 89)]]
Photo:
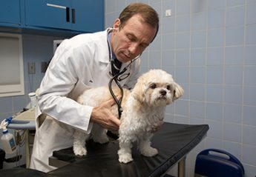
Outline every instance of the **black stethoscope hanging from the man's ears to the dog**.
[[(114, 29), (111, 28), (108, 30), (108, 33), (107, 33), (107, 36), (109, 36), (109, 34), (113, 31)], [(113, 54), (112, 54), (112, 50), (111, 50), (111, 44), (110, 44), (110, 39), (107, 37), (107, 41), (108, 41), (108, 55), (109, 55), (109, 60), (111, 61), (111, 71), (109, 72), (109, 74), (111, 75), (111, 79), (110, 81), (108, 82), (108, 89), (111, 93), (111, 96), (114, 98), (114, 101), (116, 102), (117, 104), (117, 108), (118, 108), (118, 116), (119, 118), (121, 118), (121, 115), (122, 115), (122, 98), (123, 98), (123, 89), (122, 89), (122, 86), (121, 84), (119, 83), (120, 81), (128, 78), (128, 76), (130, 75), (130, 72), (126, 73), (125, 74), (125, 71), (128, 70), (128, 67), (131, 66), (131, 64), (136, 61), (137, 59), (140, 58), (141, 54), (137, 57), (135, 57), (135, 59), (131, 60), (130, 63), (125, 66), (122, 70), (119, 71), (119, 73), (117, 73), (116, 75), (113, 76), (113, 71), (114, 71), (114, 59), (113, 59)], [(130, 70), (131, 70), (131, 67), (130, 67)], [(119, 90), (120, 90), (120, 93), (121, 93), (121, 97), (118, 99), (116, 98), (114, 92), (113, 92), (113, 89), (112, 89), (112, 83), (113, 81), (116, 83), (116, 85), (119, 87)]]

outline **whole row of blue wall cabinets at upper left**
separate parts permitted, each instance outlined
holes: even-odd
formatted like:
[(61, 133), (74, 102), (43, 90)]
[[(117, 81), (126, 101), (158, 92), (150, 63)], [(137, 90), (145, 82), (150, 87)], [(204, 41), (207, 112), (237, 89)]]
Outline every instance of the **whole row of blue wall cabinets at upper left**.
[(104, 30), (104, 0), (1, 0), (0, 26), (91, 33)]

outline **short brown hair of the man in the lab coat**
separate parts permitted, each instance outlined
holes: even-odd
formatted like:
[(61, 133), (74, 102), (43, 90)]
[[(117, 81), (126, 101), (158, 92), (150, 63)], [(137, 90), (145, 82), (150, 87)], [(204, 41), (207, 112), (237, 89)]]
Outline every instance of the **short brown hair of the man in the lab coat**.
[[(140, 2), (131, 3), (127, 7), (125, 7), (124, 10), (122, 10), (122, 12), (119, 15), (119, 20), (120, 20), (119, 28), (121, 29), (122, 27), (124, 27), (128, 19), (131, 19), (131, 17), (136, 14), (140, 14), (142, 16), (143, 21), (147, 24), (150, 24), (151, 27), (156, 27), (158, 32), (159, 17), (156, 10), (154, 10), (148, 4), (143, 4)], [(154, 38), (157, 36), (157, 32)]]

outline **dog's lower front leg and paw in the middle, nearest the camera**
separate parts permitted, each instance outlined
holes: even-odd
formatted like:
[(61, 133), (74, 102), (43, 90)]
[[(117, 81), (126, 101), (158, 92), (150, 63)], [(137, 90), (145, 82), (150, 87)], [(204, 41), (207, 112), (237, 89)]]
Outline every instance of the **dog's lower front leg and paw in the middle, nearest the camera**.
[(131, 156), (131, 141), (120, 140), (119, 138), (119, 150), (118, 150), (119, 162), (127, 164), (134, 159)]

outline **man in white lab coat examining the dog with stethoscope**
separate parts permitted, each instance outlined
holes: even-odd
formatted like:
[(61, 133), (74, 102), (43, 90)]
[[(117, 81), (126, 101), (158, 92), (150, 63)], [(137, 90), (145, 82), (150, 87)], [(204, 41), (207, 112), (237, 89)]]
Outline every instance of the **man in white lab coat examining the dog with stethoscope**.
[[(112, 28), (62, 41), (37, 90), (36, 136), (30, 167), (48, 172), (54, 150), (73, 145), (73, 129), (90, 133), (93, 124), (118, 130), (120, 121), (109, 108), (114, 99), (99, 107), (78, 104), (76, 98), (91, 87), (106, 86), (118, 70), (122, 87), (132, 88), (140, 69), (140, 55), (157, 36), (159, 18), (147, 4), (125, 7)], [(117, 61), (111, 65), (111, 61)], [(45, 118), (45, 116), (47, 116)]]

